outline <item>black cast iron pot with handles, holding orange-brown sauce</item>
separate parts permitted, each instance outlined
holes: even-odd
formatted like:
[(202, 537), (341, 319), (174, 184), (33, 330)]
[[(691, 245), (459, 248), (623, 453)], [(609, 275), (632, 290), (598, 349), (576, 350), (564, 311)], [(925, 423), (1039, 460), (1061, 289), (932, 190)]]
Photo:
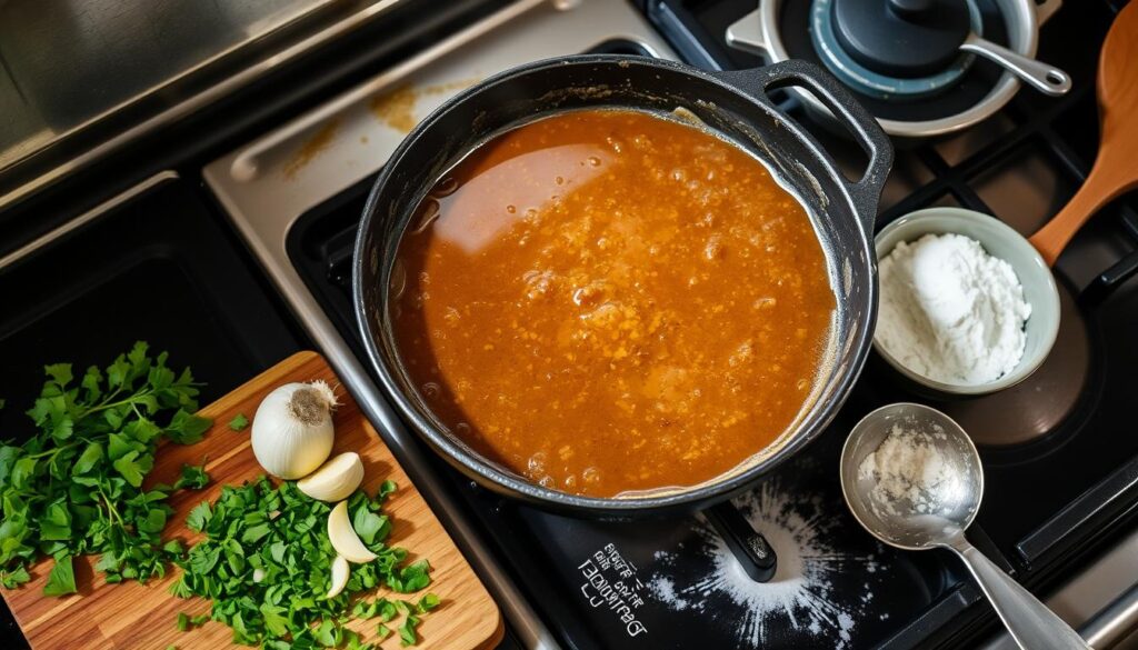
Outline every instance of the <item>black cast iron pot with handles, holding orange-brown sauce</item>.
[[(767, 90), (790, 85), (814, 92), (849, 127), (869, 158), (860, 180), (846, 180), (817, 141), (767, 98)], [(445, 172), (480, 143), (521, 123), (554, 112), (605, 106), (663, 113), (686, 108), (764, 159), (811, 214), (838, 302), (834, 345), (819, 375), (820, 389), (792, 430), (753, 461), (710, 483), (635, 499), (549, 489), (475, 452), (431, 413), (410, 380), (388, 312), (399, 240), (417, 206)], [(709, 508), (706, 515), (725, 533), (744, 568), (758, 579), (769, 577), (774, 573), (769, 548), (726, 502), (817, 436), (861, 370), (877, 313), (873, 222), (891, 163), (892, 147), (874, 118), (836, 80), (805, 61), (708, 73), (658, 59), (583, 55), (513, 68), (439, 107), (407, 135), (376, 181), (360, 224), (352, 282), (368, 355), (387, 397), (415, 430), (451, 464), (489, 489), (546, 509), (603, 518)], [(749, 566), (748, 560), (758, 565)]]

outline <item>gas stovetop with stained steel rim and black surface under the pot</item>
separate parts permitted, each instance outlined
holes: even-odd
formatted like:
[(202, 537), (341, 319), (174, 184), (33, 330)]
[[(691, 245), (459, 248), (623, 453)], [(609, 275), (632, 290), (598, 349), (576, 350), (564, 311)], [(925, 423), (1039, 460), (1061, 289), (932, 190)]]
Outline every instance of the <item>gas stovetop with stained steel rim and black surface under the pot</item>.
[[(1062, 583), (1092, 552), (1131, 533), (1138, 212), (1130, 200), (1087, 225), (1056, 266), (1063, 327), (1052, 357), (1028, 382), (992, 397), (937, 403), (907, 393), (871, 357), (828, 431), (736, 500), (780, 556), (768, 584), (750, 581), (699, 517), (583, 521), (475, 486), (409, 435), (363, 370), (348, 298), (351, 247), (376, 172), (417, 120), (477, 79), (545, 56), (679, 52), (706, 67), (758, 65), (723, 40), (725, 27), (753, 9), (753, 0), (650, 1), (641, 13), (610, 0), (516, 2), (208, 165), (205, 176), (427, 486), (523, 641), (653, 649), (978, 644), (995, 623), (979, 590), (947, 553), (902, 553), (872, 541), (842, 502), (838, 451), (852, 425), (881, 404), (918, 401), (953, 414), (981, 443), (987, 475), (970, 537), (1032, 589)], [(958, 135), (898, 143), (877, 225), (931, 205), (993, 214), (1024, 235), (1046, 222), (1094, 161), (1094, 72), (1113, 13), (1098, 1), (1069, 7), (1044, 28), (1041, 57), (1071, 73), (1069, 96), (1023, 91)], [(792, 100), (783, 106), (808, 120)], [(814, 131), (856, 165), (852, 145)]]

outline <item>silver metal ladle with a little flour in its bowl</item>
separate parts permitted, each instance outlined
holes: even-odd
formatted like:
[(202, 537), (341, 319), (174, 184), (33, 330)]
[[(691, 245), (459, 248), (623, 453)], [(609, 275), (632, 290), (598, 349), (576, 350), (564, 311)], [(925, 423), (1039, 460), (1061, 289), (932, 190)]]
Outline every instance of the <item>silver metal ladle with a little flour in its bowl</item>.
[[(920, 503), (884, 501), (877, 479), (860, 471), (894, 426), (930, 434), (931, 444), (950, 468), (951, 479), (930, 486)], [(842, 449), (842, 493), (853, 517), (874, 537), (907, 551), (948, 549), (964, 561), (991, 601), (1012, 637), (1024, 650), (1086, 650), (1075, 631), (1020, 586), (964, 537), (984, 492), (980, 454), (951, 418), (921, 404), (891, 404), (866, 415)], [(880, 491), (877, 491), (880, 492)]]

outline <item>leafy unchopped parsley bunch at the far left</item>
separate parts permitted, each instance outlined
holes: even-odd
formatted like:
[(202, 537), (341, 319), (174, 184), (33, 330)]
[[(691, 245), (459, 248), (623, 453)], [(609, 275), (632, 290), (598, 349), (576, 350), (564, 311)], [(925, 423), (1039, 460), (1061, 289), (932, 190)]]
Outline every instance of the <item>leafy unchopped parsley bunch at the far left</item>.
[(27, 411), (35, 435), (0, 445), (0, 584), (27, 582), (28, 565), (51, 556), (43, 592), (73, 593), (72, 559), (84, 553), (101, 556), (96, 569), (108, 583), (146, 582), (181, 553), (176, 541), (160, 541), (173, 515), (166, 497), (204, 486), (208, 476), (184, 467), (173, 486), (142, 489), (142, 480), (159, 441), (196, 443), (212, 422), (192, 414), (198, 385), (190, 370), (175, 373), (166, 353), (147, 351), (139, 342), (106, 369), (88, 368), (77, 385), (71, 364), (44, 367), (48, 379)]

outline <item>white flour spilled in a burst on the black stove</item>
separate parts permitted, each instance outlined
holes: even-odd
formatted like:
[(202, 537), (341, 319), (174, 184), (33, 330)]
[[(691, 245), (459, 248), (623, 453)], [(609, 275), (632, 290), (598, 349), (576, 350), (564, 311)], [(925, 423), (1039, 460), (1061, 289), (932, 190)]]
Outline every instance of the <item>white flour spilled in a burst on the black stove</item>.
[[(778, 569), (768, 583), (752, 581), (709, 527), (700, 530), (701, 552), (710, 559), (711, 570), (691, 584), (677, 584), (670, 575), (657, 573), (649, 581), (650, 592), (674, 610), (694, 610), (734, 630), (736, 647), (767, 645), (774, 634), (817, 639), (818, 648), (847, 649), (856, 620), (873, 600), (871, 585), (860, 593), (835, 593), (835, 578), (850, 563), (874, 573), (872, 557), (839, 552), (826, 540), (840, 537), (834, 530), (840, 519), (826, 513), (820, 499), (791, 497), (768, 480), (757, 492), (735, 503), (761, 533), (778, 556)], [(793, 500), (792, 500), (793, 499)], [(667, 566), (667, 553), (657, 560)], [(728, 607), (723, 607), (723, 600)]]

